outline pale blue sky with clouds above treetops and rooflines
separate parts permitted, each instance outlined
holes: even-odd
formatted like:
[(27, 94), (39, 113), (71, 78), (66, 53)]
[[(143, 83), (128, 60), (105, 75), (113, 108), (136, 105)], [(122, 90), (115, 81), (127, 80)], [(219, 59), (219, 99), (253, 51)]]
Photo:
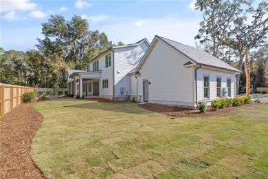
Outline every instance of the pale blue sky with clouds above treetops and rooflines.
[(177, 1), (86, 1), (0, 0), (0, 47), (4, 50), (36, 49), (43, 39), (42, 23), (60, 14), (87, 19), (89, 30), (107, 34), (117, 44), (152, 41), (155, 35), (195, 46), (203, 14), (194, 10), (194, 0)]

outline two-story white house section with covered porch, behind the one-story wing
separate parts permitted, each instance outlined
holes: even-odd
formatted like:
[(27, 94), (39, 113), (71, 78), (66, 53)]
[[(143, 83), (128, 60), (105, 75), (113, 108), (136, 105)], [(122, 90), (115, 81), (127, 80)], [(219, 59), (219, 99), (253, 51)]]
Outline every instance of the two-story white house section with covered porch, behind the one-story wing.
[(112, 46), (92, 59), (87, 70), (67, 70), (69, 94), (111, 100), (136, 97), (137, 81), (129, 72), (134, 72), (149, 45), (147, 39), (142, 39), (129, 45)]

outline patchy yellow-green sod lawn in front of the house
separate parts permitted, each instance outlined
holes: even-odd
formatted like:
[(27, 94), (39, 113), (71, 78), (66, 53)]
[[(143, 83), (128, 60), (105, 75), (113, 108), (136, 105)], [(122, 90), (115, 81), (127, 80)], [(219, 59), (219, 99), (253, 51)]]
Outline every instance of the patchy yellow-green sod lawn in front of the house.
[(32, 158), (48, 178), (267, 178), (268, 105), (170, 118), (136, 104), (50, 100)]

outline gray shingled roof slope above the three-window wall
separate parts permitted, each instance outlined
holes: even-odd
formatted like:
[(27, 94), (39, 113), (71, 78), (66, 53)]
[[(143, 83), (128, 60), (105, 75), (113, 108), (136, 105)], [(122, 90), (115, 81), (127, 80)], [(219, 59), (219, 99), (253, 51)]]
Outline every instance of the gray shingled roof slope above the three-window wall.
[(231, 70), (234, 72), (241, 72), (240, 70), (237, 70), (236, 68), (232, 67), (231, 65), (225, 63), (224, 61), (221, 61), (220, 59), (217, 59), (212, 54), (209, 54), (208, 52), (205, 52), (203, 50), (199, 50), (197, 48), (192, 48), (188, 45), (183, 45), (182, 43), (172, 41), (170, 39), (166, 39), (161, 36), (157, 36), (159, 39), (165, 41), (168, 43), (168, 45), (171, 45), (173, 48), (184, 54), (185, 56), (188, 56), (192, 61), (199, 65), (206, 65), (210, 67), (216, 67), (216, 68), (222, 68), (225, 70)]

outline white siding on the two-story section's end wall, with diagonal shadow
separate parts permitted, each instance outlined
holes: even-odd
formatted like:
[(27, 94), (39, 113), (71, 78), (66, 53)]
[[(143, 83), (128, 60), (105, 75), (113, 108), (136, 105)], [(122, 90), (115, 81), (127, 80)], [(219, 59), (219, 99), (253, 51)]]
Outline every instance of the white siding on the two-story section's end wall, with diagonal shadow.
[(120, 96), (120, 87), (124, 87), (123, 95), (130, 94), (130, 78), (129, 73), (133, 68), (137, 67), (139, 61), (144, 56), (148, 45), (144, 43), (128, 48), (115, 49), (115, 96)]

